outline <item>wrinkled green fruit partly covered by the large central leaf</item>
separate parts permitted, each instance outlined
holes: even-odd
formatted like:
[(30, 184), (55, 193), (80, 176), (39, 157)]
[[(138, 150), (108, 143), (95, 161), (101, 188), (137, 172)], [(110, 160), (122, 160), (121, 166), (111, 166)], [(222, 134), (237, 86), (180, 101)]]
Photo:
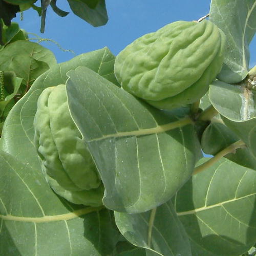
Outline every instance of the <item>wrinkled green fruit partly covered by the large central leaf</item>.
[(41, 93), (34, 129), (42, 173), (55, 193), (75, 204), (102, 205), (104, 187), (71, 118), (65, 84)]

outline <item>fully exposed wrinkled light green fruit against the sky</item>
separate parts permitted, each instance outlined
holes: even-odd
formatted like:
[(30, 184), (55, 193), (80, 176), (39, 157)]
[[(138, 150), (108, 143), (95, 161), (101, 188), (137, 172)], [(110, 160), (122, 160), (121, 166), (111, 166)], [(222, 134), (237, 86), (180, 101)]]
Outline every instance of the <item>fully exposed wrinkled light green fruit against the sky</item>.
[(117, 55), (114, 71), (124, 90), (170, 110), (208, 91), (224, 49), (225, 35), (215, 24), (178, 21), (132, 42)]

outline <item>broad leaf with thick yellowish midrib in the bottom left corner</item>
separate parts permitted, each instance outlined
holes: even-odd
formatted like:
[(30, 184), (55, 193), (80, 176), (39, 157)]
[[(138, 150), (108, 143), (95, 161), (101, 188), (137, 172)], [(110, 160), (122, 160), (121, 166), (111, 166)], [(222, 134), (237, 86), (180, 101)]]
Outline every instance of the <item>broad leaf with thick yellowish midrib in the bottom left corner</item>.
[[(25, 148), (24, 148), (25, 150)], [(0, 151), (1, 255), (108, 255), (119, 238), (109, 210), (72, 205), (41, 172)]]

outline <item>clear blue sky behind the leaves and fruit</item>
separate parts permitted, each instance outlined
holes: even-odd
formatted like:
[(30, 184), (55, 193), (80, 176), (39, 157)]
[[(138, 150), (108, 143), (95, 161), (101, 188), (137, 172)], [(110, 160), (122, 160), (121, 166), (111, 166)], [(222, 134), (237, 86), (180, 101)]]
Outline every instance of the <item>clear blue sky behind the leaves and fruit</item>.
[[(57, 6), (71, 12), (67, 1), (57, 1)], [(28, 32), (52, 39), (62, 48), (73, 50), (75, 55), (105, 46), (117, 55), (136, 38), (177, 20), (197, 20), (209, 12), (209, 7), (210, 0), (106, 0), (109, 22), (98, 28), (92, 27), (72, 12), (66, 17), (59, 17), (49, 7), (44, 34), (40, 33), (40, 17), (34, 10), (25, 11), (22, 21), (19, 14), (13, 21)], [(51, 42), (41, 45), (52, 50), (58, 62), (74, 57), (72, 53), (61, 51)], [(250, 49), (252, 67), (256, 65), (255, 37)]]

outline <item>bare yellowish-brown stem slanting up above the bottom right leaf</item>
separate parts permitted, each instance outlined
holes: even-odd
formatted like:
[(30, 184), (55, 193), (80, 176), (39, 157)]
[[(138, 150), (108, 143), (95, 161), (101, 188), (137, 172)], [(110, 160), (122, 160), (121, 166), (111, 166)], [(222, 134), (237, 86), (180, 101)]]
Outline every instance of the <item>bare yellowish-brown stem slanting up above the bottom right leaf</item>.
[(234, 142), (233, 144), (224, 148), (224, 150), (220, 151), (218, 154), (216, 154), (210, 160), (208, 160), (205, 163), (197, 166), (194, 169), (193, 175), (198, 174), (198, 173), (202, 172), (203, 170), (207, 169), (208, 167), (210, 167), (212, 164), (218, 162), (222, 157), (226, 156), (227, 154), (236, 153), (237, 148), (243, 148), (245, 146), (246, 145), (242, 140), (238, 140), (237, 142)]

